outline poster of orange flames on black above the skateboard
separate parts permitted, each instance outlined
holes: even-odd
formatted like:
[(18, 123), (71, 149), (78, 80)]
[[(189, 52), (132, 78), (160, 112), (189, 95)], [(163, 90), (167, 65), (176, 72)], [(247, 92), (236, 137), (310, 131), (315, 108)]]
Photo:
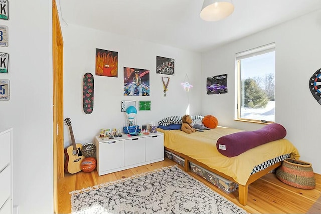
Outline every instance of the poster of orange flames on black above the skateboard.
[(118, 77), (118, 52), (96, 48), (96, 75)]

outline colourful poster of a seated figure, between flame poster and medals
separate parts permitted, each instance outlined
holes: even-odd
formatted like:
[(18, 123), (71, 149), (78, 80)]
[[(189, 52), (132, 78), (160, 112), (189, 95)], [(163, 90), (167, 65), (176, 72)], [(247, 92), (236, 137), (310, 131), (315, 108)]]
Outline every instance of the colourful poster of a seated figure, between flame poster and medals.
[(149, 96), (149, 70), (124, 67), (124, 95)]

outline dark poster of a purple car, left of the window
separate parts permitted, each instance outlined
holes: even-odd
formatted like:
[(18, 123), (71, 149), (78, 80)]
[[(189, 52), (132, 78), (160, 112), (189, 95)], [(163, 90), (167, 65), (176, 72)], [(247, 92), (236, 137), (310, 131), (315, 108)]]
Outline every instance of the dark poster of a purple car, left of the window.
[(206, 78), (206, 94), (227, 94), (227, 74)]

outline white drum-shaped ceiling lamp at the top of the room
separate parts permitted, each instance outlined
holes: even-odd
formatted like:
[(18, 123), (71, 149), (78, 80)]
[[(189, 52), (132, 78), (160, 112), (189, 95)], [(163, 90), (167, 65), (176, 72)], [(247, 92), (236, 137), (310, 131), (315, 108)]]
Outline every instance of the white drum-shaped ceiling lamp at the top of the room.
[(234, 11), (232, 0), (204, 0), (200, 17), (205, 21), (218, 21)]

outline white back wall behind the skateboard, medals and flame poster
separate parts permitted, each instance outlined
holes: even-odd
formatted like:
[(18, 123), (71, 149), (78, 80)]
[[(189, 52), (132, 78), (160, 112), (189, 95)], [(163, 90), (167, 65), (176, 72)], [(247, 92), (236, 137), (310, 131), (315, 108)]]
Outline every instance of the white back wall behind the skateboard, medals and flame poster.
[[(64, 38), (64, 115), (71, 119), (76, 142), (94, 142), (94, 136), (101, 128), (121, 129), (125, 122), (125, 113), (121, 112), (122, 100), (135, 100), (137, 109), (139, 100), (151, 101), (151, 111), (137, 111), (140, 126), (151, 121), (157, 125), (159, 120), (172, 115), (183, 116), (188, 104), (191, 104), (191, 115), (201, 113), (199, 53), (64, 22), (61, 26)], [(96, 48), (118, 52), (118, 78), (95, 75)], [(174, 76), (156, 74), (156, 56), (175, 59)], [(123, 67), (149, 70), (150, 96), (123, 95)], [(82, 81), (87, 72), (94, 75), (94, 109), (91, 114), (83, 112), (82, 103)], [(185, 92), (181, 86), (186, 74), (195, 85), (190, 92)], [(163, 76), (170, 77), (166, 97)], [(71, 139), (67, 126), (64, 136), (65, 146), (69, 146)]]

